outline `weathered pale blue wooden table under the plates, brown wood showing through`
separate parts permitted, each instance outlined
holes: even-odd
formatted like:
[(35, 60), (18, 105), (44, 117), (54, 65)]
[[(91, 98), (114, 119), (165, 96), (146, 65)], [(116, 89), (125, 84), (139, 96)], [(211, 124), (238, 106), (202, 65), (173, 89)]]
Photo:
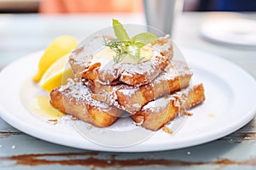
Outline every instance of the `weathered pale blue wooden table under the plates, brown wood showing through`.
[[(173, 40), (178, 47), (216, 54), (241, 66), (256, 78), (256, 50), (233, 48), (200, 37), (204, 20), (217, 13), (177, 16)], [(226, 15), (226, 13), (218, 13)], [(240, 14), (256, 20), (256, 13)], [(0, 68), (15, 59), (44, 49), (55, 37), (72, 35), (81, 41), (111, 26), (111, 19), (145, 24), (143, 14), (0, 14)], [(1, 83), (4, 83), (1, 81)], [(214, 105), (214, 104), (212, 104)], [(242, 104), (241, 104), (242, 105)], [(112, 153), (73, 149), (26, 135), (0, 119), (0, 167), (3, 169), (255, 169), (256, 119), (235, 133), (207, 144), (180, 150)]]

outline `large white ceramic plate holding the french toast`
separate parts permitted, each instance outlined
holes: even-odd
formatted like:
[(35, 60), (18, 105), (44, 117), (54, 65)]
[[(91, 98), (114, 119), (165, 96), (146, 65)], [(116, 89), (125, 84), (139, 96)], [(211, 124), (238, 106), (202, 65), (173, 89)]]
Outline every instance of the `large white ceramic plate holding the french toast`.
[(40, 92), (32, 80), (42, 52), (16, 60), (0, 74), (0, 113), (4, 121), (38, 139), (75, 148), (108, 151), (172, 150), (221, 138), (244, 126), (256, 111), (256, 82), (238, 66), (212, 54), (184, 48), (194, 70), (193, 82), (203, 82), (206, 101), (192, 110), (177, 133), (161, 130), (142, 143), (108, 147), (82, 137), (69, 122), (46, 122), (29, 111), (27, 104)]

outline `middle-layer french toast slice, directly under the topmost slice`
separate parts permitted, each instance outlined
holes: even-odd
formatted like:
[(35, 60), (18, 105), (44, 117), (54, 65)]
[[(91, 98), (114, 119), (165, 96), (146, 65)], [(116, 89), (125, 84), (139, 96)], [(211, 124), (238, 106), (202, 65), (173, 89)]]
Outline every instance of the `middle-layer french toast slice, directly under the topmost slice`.
[(125, 84), (96, 87), (93, 82), (89, 87), (94, 93), (92, 94), (94, 99), (135, 113), (149, 101), (188, 87), (192, 75), (192, 71), (185, 62), (173, 60), (153, 82), (140, 87)]

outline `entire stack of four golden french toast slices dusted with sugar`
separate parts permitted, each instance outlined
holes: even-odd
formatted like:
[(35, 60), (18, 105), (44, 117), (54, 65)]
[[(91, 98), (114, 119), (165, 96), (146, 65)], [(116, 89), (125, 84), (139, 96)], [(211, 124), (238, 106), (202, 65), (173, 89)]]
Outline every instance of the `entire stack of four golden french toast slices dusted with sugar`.
[(205, 100), (203, 85), (192, 85), (189, 65), (173, 59), (168, 35), (145, 48), (150, 59), (117, 63), (104, 57), (106, 48), (99, 58), (87, 45), (79, 46), (69, 57), (75, 78), (50, 93), (50, 104), (96, 127), (111, 126), (128, 113), (138, 126), (156, 131), (190, 115), (189, 109)]

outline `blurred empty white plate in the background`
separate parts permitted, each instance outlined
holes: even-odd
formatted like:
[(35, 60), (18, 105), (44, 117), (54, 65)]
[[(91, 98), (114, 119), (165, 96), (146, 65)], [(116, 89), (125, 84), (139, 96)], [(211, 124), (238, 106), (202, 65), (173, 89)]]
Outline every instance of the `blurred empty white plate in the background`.
[(256, 48), (256, 21), (246, 19), (212, 19), (201, 26), (201, 36), (240, 48)]

